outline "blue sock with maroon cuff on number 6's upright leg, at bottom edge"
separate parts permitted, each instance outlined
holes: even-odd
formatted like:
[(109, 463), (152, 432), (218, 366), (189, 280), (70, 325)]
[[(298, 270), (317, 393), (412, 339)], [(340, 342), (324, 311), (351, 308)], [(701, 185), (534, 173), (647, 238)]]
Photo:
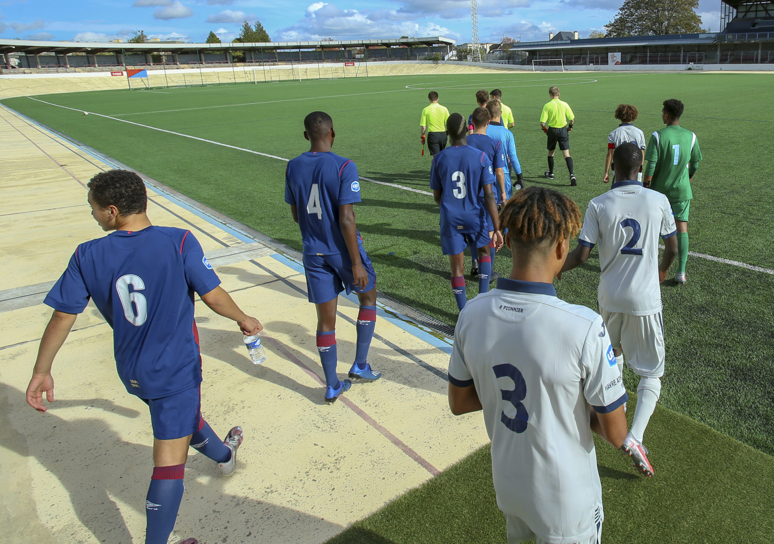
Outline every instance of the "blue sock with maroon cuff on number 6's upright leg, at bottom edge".
[(154, 467), (146, 495), (146, 544), (166, 544), (183, 498), (186, 465)]

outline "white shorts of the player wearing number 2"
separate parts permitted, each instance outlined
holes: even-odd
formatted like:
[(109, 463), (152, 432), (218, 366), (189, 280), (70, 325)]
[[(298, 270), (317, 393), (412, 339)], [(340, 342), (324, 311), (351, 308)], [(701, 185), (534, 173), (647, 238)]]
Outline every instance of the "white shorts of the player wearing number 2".
[(610, 334), (610, 343), (624, 350), (626, 364), (637, 376), (664, 375), (664, 321), (661, 312), (651, 315), (622, 314), (599, 309)]

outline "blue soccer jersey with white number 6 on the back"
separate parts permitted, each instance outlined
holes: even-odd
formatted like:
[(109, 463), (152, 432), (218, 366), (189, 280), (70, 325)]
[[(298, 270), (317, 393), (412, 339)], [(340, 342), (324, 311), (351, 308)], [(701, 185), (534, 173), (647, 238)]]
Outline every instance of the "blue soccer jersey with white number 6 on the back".
[(126, 390), (158, 399), (201, 382), (194, 291), (220, 283), (190, 231), (149, 226), (81, 243), (44, 302), (80, 314), (91, 298), (113, 328)]

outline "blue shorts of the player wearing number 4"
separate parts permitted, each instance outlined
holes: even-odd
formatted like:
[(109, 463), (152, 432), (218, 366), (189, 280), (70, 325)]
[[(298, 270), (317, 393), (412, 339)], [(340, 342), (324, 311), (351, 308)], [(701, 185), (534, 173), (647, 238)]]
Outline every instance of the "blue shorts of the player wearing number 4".
[(313, 304), (323, 304), (332, 301), (341, 291), (347, 290), (358, 293), (368, 293), (376, 287), (376, 273), (371, 264), (371, 259), (365, 254), (362, 243), (358, 243), (360, 260), (368, 274), (368, 285), (360, 289), (352, 282), (352, 260), (349, 253), (336, 253), (335, 255), (304, 255), (303, 270), (307, 273), (307, 291), (309, 301)]

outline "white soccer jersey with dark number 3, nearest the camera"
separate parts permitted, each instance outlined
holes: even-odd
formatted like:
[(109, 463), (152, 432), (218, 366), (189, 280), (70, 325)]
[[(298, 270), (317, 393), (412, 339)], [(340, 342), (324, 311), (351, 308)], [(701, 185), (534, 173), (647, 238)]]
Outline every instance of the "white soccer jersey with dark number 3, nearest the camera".
[(502, 512), (546, 542), (591, 538), (602, 494), (589, 405), (627, 399), (602, 318), (552, 284), (499, 278), (460, 312), (449, 381), (475, 384)]

